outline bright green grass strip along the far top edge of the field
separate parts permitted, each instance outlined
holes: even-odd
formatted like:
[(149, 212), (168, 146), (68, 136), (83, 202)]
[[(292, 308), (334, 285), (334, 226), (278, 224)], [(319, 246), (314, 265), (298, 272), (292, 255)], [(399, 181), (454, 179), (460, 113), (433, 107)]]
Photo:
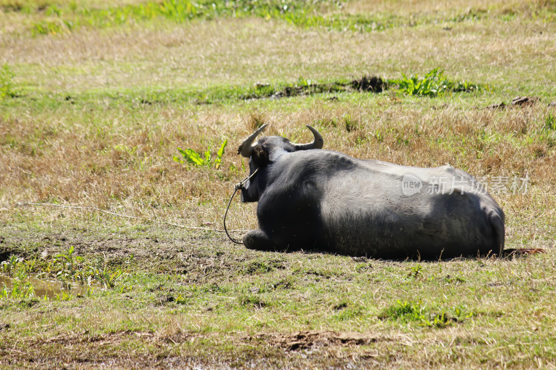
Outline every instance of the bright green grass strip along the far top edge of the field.
[[(183, 23), (192, 19), (259, 17), (280, 19), (302, 28), (326, 28), (335, 31), (371, 32), (401, 26), (422, 26), (438, 23), (480, 22), (492, 17), (489, 10), (468, 8), (456, 14), (432, 13), (402, 16), (390, 12), (346, 14), (343, 4), (337, 1), (301, 0), (163, 0), (123, 4), (120, 6), (95, 7), (88, 3), (58, 4), (42, 1), (10, 3), (1, 6), (6, 11), (40, 12), (47, 16), (33, 23), (34, 35), (54, 35), (71, 32), (83, 26), (109, 28), (138, 22), (154, 22), (164, 19)], [(537, 12), (550, 16), (550, 6), (540, 6)], [(509, 22), (517, 11), (503, 11), (496, 17)], [(539, 17), (540, 14), (536, 16)]]

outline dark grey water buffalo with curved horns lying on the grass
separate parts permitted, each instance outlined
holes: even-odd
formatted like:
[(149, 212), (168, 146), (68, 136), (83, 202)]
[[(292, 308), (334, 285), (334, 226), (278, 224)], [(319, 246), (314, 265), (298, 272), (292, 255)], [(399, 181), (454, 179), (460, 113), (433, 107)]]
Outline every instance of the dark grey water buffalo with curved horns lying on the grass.
[(256, 171), (241, 200), (259, 202), (259, 229), (243, 237), (247, 248), (394, 259), (502, 253), (504, 212), (466, 172), (322, 150), (311, 126), (309, 144), (279, 136), (253, 143), (265, 126), (238, 149)]

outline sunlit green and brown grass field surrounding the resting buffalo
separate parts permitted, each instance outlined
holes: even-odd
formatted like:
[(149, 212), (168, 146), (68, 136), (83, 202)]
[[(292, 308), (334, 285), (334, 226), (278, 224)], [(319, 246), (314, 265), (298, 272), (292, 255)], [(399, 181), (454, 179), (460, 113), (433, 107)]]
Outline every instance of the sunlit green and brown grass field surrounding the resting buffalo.
[[(0, 367), (555, 368), (555, 40), (553, 0), (0, 0)], [(263, 123), (464, 169), (546, 253), (232, 244)]]

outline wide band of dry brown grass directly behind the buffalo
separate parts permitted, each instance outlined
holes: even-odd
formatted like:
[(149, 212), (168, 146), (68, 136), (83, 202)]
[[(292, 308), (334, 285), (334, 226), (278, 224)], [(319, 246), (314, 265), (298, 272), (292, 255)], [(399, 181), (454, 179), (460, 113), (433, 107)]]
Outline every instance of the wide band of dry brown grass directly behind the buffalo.
[[(357, 158), (419, 167), (450, 164), (491, 180), (527, 173), (532, 186), (528, 195), (497, 196), (505, 208), (529, 218), (524, 205), (533, 194), (550, 192), (556, 181), (555, 133), (543, 128), (549, 112), (541, 104), (503, 111), (451, 106), (423, 110), (377, 96), (369, 106), (322, 102), (295, 112), (247, 109), (238, 114), (207, 108), (193, 114), (154, 108), (144, 112), (141, 124), (122, 125), (118, 117), (105, 117), (105, 124), (92, 127), (57, 119), (7, 119), (0, 121), (0, 206), (58, 201), (190, 226), (219, 225), (232, 186), (246, 174), (236, 147), (254, 125), (268, 122), (268, 135), (297, 142), (309, 140), (304, 125), (316, 126), (327, 149)], [(218, 170), (172, 160), (177, 147), (204, 151), (212, 144), (214, 152), (224, 137), (230, 142)], [(555, 199), (544, 201), (548, 203), (539, 209), (546, 220), (544, 212)], [(240, 218), (249, 220), (236, 226), (252, 227), (252, 207), (242, 208), (236, 209)], [(521, 217), (509, 212), (509, 219)]]

